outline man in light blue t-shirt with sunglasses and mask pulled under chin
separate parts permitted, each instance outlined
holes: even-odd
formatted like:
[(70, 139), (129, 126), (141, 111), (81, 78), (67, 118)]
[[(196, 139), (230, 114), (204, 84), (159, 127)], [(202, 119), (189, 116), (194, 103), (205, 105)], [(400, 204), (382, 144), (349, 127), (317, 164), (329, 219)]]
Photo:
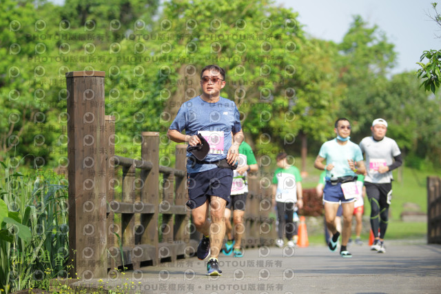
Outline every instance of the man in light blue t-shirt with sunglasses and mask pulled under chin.
[[(349, 135), (351, 135), (349, 120), (345, 118), (337, 119), (334, 132), (337, 135), (336, 139), (327, 141), (322, 145), (316, 161), (314, 161), (314, 167), (327, 171), (323, 202), (325, 202), (326, 224), (333, 234), (329, 239), (329, 249), (336, 251), (338, 239), (340, 239), (335, 218), (339, 202), (341, 202), (343, 229), (340, 255), (342, 257), (352, 257), (346, 246), (351, 236), (353, 202), (356, 201), (358, 193), (356, 175), (364, 174), (366, 168), (360, 147), (349, 141)], [(325, 160), (326, 164), (323, 163)]]

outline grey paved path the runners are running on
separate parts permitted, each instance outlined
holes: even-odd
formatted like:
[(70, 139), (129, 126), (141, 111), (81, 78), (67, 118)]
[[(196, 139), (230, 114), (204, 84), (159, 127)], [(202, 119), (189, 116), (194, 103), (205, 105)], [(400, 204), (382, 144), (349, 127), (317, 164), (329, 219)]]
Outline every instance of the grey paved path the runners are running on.
[(221, 277), (205, 276), (196, 257), (127, 272), (114, 280), (130, 293), (441, 293), (441, 246), (389, 244), (387, 253), (351, 246), (342, 258), (325, 246), (252, 248), (219, 258)]

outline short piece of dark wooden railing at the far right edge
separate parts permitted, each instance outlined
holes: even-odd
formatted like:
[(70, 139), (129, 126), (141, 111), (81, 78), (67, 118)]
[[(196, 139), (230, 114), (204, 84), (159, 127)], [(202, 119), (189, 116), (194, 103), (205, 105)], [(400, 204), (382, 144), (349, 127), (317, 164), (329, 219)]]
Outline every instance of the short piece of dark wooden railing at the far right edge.
[(440, 177), (427, 177), (427, 243), (441, 244)]

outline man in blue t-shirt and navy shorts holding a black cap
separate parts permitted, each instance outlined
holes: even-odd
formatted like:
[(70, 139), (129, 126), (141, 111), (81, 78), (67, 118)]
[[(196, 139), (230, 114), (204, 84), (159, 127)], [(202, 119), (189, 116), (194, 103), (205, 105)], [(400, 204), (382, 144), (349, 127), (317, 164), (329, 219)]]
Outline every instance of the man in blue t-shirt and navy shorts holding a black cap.
[[(181, 106), (167, 131), (167, 136), (178, 143), (196, 146), (202, 144), (198, 137), (202, 135), (209, 144), (209, 153), (202, 161), (187, 152), (187, 206), (192, 208), (193, 224), (203, 233), (196, 252), (198, 259), (203, 260), (211, 253), (207, 275), (222, 275), (217, 257), (225, 237), (223, 216), (233, 182), (233, 170), (229, 166), (238, 161), (243, 141), (239, 111), (234, 101), (220, 97), (223, 87), (225, 70), (216, 65), (205, 66), (201, 71), (203, 94)], [(183, 130), (185, 135), (181, 133)]]

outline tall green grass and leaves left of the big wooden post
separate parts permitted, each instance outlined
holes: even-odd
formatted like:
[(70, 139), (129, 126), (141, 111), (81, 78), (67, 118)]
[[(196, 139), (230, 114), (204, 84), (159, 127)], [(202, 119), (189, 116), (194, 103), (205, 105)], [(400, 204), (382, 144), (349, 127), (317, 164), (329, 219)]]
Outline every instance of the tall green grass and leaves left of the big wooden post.
[(0, 292), (48, 289), (68, 276), (68, 184), (53, 173), (21, 173), (0, 161)]

